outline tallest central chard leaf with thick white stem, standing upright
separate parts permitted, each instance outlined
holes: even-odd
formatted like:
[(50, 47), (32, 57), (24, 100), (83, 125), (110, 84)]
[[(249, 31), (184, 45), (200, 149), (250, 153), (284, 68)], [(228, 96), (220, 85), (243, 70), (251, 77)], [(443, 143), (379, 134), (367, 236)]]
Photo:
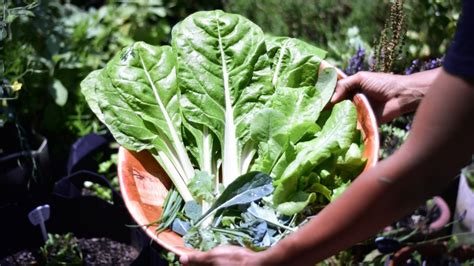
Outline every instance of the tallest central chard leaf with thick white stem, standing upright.
[(249, 123), (272, 93), (263, 32), (242, 16), (204, 11), (173, 28), (172, 44), (183, 114), (218, 138), (227, 186), (247, 172), (256, 148)]

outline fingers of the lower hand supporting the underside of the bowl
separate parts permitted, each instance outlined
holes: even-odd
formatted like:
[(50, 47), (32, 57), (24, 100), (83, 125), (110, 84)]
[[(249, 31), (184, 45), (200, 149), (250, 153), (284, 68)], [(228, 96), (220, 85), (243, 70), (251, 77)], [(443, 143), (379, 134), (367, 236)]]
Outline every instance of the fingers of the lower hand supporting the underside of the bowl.
[(220, 246), (208, 252), (196, 251), (182, 255), (179, 262), (193, 265), (263, 265), (261, 253), (237, 246)]

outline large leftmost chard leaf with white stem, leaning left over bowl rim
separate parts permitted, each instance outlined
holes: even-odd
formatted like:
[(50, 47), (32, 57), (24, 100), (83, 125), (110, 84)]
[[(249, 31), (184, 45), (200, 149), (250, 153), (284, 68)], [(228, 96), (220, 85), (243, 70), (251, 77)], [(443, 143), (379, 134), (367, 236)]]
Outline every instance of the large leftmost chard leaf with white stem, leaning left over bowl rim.
[[(186, 184), (194, 169), (181, 137), (175, 67), (171, 47), (137, 42), (124, 48), (99, 74), (93, 72), (91, 78), (97, 81), (103, 121), (117, 141), (130, 150), (156, 150), (155, 158), (189, 201), (192, 196)], [(91, 83), (90, 79), (83, 83), (86, 93), (92, 90), (88, 89)]]

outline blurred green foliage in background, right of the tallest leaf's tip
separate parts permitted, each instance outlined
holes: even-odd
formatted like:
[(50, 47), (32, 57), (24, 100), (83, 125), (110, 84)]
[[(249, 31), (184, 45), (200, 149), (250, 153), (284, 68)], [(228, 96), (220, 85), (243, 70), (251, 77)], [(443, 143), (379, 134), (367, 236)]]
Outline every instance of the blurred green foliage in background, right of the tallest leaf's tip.
[[(366, 69), (372, 47), (381, 37), (394, 0), (223, 0), (224, 9), (242, 14), (265, 32), (301, 38), (329, 51), (329, 59), (346, 69), (352, 55), (364, 49)], [(454, 36), (461, 0), (406, 0), (406, 38), (394, 69), (414, 59), (439, 58)]]

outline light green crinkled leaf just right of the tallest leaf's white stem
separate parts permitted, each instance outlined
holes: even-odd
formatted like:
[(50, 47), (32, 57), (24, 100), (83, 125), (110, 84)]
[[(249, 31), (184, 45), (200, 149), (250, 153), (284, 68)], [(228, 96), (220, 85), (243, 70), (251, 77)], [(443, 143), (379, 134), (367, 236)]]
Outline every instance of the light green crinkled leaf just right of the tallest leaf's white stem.
[[(281, 173), (273, 172), (273, 167), (278, 164), (279, 160), (283, 160), (279, 163), (279, 168), (282, 168), (282, 163), (287, 160), (282, 158), (287, 146), (290, 143), (296, 144), (304, 136), (314, 135), (320, 130), (316, 120), (330, 100), (336, 81), (336, 71), (327, 68), (321, 72), (315, 85), (297, 88), (277, 87), (268, 104), (269, 109), (260, 111), (256, 116), (256, 118), (267, 119), (256, 119), (251, 127), (252, 138), (255, 141), (260, 140), (258, 157), (252, 170), (271, 172), (273, 177), (280, 176)], [(257, 131), (259, 134), (254, 134), (254, 130), (252, 130), (254, 128), (262, 130)]]

